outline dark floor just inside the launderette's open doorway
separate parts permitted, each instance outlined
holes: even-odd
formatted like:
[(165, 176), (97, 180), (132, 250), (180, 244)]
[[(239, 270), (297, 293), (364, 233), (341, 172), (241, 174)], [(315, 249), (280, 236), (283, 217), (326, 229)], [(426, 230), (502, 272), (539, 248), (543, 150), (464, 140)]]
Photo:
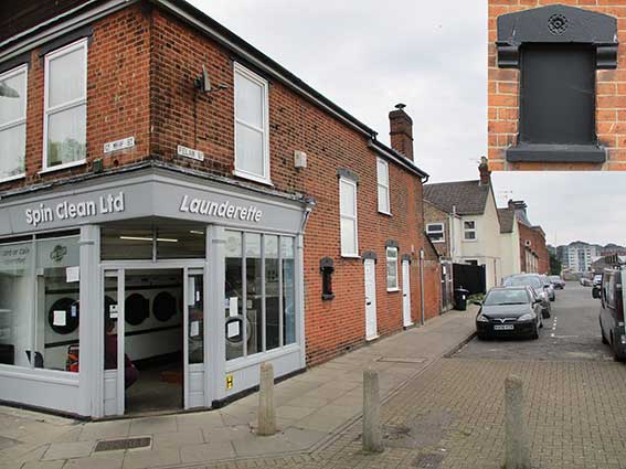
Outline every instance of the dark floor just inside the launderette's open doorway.
[(139, 379), (126, 390), (126, 415), (178, 411), (182, 402), (180, 361), (144, 365)]

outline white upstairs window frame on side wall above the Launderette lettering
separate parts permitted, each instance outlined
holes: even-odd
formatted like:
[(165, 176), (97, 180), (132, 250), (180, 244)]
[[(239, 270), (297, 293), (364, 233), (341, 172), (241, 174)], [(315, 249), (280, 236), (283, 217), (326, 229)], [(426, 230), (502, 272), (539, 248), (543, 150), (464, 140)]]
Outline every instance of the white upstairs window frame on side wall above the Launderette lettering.
[[(233, 171), (233, 174), (235, 174), (240, 178), (250, 179), (251, 181), (261, 182), (261, 183), (264, 183), (264, 184), (272, 185), (272, 179), (269, 177), (269, 93), (268, 93), (269, 84), (267, 83), (266, 79), (262, 78), (261, 76), (258, 76), (254, 72), (247, 70), (246, 67), (244, 67), (243, 65), (241, 65), (237, 62), (235, 62), (234, 67), (233, 67), (233, 87), (235, 86), (234, 83), (235, 83), (235, 79), (236, 79), (235, 78), (236, 75), (241, 75), (244, 78), (256, 83), (263, 89), (263, 129), (259, 129), (258, 127), (253, 126), (253, 125), (237, 118), (237, 100), (236, 100), (235, 95), (233, 93), (233, 108), (234, 108), (234, 116), (233, 117), (234, 117), (234, 127), (235, 127), (235, 129), (234, 129), (234, 136), (235, 136), (235, 140), (234, 140), (235, 169)], [(238, 168), (238, 166), (237, 166), (237, 125), (242, 125), (242, 126), (248, 127), (253, 130), (262, 132), (262, 135), (263, 135), (263, 171), (264, 171), (264, 174), (255, 174), (253, 172), (245, 171), (245, 170)]]

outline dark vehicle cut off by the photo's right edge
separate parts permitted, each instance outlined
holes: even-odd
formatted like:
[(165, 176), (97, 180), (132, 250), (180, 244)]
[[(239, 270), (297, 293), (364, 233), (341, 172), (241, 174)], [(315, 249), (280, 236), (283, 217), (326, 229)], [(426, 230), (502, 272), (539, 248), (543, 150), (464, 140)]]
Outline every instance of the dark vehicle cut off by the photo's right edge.
[(600, 331), (602, 343), (608, 344), (616, 361), (626, 361), (626, 328), (624, 327), (624, 270), (607, 269), (601, 285), (593, 287), (592, 295), (601, 300)]

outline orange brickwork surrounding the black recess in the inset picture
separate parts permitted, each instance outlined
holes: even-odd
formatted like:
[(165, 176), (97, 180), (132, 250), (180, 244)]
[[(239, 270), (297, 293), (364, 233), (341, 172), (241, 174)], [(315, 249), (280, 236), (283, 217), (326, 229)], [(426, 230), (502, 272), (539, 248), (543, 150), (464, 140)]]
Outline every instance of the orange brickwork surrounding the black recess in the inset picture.
[[(591, 170), (593, 163), (508, 163), (505, 149), (514, 143), (518, 132), (519, 71), (497, 66), (495, 41), (497, 18), (548, 4), (569, 4), (617, 18), (618, 35), (626, 38), (626, 3), (623, 0), (489, 0), (488, 53), (488, 132), (489, 167), (491, 170)], [(607, 162), (602, 169), (626, 170), (626, 45), (619, 44), (617, 70), (596, 72), (596, 132), (600, 142), (608, 148)]]

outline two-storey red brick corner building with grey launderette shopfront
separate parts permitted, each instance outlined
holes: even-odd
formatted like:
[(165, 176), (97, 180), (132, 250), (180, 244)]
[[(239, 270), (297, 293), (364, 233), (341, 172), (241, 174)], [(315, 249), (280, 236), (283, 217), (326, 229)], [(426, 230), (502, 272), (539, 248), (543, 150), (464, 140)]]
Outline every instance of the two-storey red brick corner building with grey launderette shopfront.
[(222, 405), (263, 361), (420, 319), (403, 106), (389, 148), (182, 0), (25, 3), (0, 20), (0, 399), (124, 414), (126, 354), (135, 390), (158, 359), (174, 407)]

